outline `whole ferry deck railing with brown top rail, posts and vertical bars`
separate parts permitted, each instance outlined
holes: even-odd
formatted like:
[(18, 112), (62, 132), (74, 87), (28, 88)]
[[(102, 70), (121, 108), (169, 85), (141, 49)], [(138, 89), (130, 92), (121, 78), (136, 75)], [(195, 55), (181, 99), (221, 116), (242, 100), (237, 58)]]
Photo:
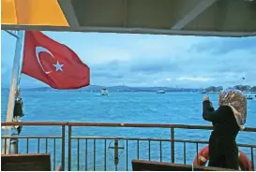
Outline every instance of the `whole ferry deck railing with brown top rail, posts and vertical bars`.
[[(56, 150), (56, 139), (61, 139), (61, 142), (59, 142), (58, 144), (61, 144), (61, 146), (58, 146), (58, 148), (61, 150), (61, 165), (64, 166), (64, 168), (68, 167), (68, 170), (71, 170), (75, 164), (72, 164), (72, 156), (74, 156), (73, 150), (77, 150), (76, 156), (77, 156), (77, 170), (80, 169), (80, 143), (82, 140), (85, 146), (85, 171), (88, 167), (88, 139), (93, 139), (93, 142), (91, 142), (91, 146), (93, 146), (93, 159), (94, 159), (94, 163), (93, 163), (93, 169), (96, 170), (96, 140), (101, 139), (103, 140), (103, 146), (104, 146), (104, 157), (105, 157), (105, 163), (104, 163), (104, 169), (107, 170), (107, 149), (109, 147), (107, 147), (107, 140), (114, 140), (114, 141), (118, 141), (118, 139), (120, 140), (124, 140), (126, 142), (126, 151), (127, 151), (127, 160), (126, 160), (126, 168), (128, 170), (128, 141), (136, 141), (135, 144), (137, 144), (137, 159), (140, 158), (140, 141), (147, 141), (148, 142), (148, 160), (151, 160), (151, 141), (157, 142), (158, 146), (159, 146), (159, 154), (157, 152), (157, 154), (159, 155), (160, 161), (162, 161), (163, 158), (163, 154), (162, 153), (162, 143), (164, 143), (165, 141), (170, 142), (170, 151), (167, 151), (168, 154), (170, 154), (170, 161), (172, 163), (175, 163), (175, 143), (181, 143), (183, 145), (184, 148), (184, 152), (183, 152), (183, 160), (184, 160), (184, 164), (186, 164), (187, 161), (187, 150), (186, 150), (186, 145), (188, 145), (188, 143), (192, 143), (196, 145), (196, 154), (199, 152), (199, 144), (207, 144), (208, 141), (205, 140), (191, 140), (191, 139), (176, 139), (175, 138), (175, 134), (174, 131), (175, 129), (198, 129), (198, 130), (212, 130), (213, 126), (209, 126), (209, 125), (188, 125), (188, 124), (168, 124), (168, 123), (118, 123), (118, 122), (1, 122), (2, 126), (21, 126), (21, 125), (26, 125), (26, 126), (55, 126), (55, 127), (60, 127), (61, 128), (61, 136), (1, 136), (1, 139), (4, 139), (4, 141), (6, 142), (6, 140), (8, 138), (22, 138), (23, 140), (26, 141), (26, 152), (29, 152), (29, 144), (31, 142), (31, 139), (36, 138), (38, 139), (38, 152), (40, 151), (41, 145), (40, 145), (40, 140), (44, 139), (45, 140), (45, 151), (48, 152), (49, 150), (49, 145), (48, 143), (53, 140), (53, 166), (55, 166), (55, 150)], [(72, 129), (76, 128), (76, 127), (137, 127), (137, 128), (162, 128), (162, 129), (169, 129), (170, 130), (170, 135), (168, 135), (168, 138), (157, 138), (157, 137), (123, 137), (123, 136), (73, 136), (72, 135)], [(67, 129), (68, 127), (68, 137), (67, 137)], [(253, 127), (247, 127), (245, 130), (245, 132), (256, 132), (256, 128)], [(169, 137), (170, 136), (170, 137)], [(77, 140), (77, 145), (74, 145), (74, 143), (72, 143), (72, 140)], [(68, 144), (66, 144), (68, 143)], [(42, 143), (41, 143), (42, 144)], [(169, 143), (167, 143), (169, 144)], [(67, 159), (67, 147), (68, 146), (68, 161), (66, 162)], [(74, 146), (74, 148), (73, 148)], [(142, 145), (141, 145), (142, 146)], [(255, 150), (256, 145), (255, 144), (237, 144), (237, 146), (239, 147), (243, 147), (243, 148), (249, 148), (250, 149), (250, 156), (251, 156), (251, 162), (254, 165), (254, 155), (253, 155), (253, 149)], [(114, 148), (116, 149), (116, 148)], [(131, 147), (129, 147), (129, 149), (131, 149)], [(117, 148), (118, 150), (118, 148)], [(6, 150), (4, 150), (6, 153)], [(115, 150), (116, 151), (116, 150)], [(66, 166), (65, 164), (68, 163), (68, 165)], [(114, 164), (115, 165), (115, 164)], [(115, 169), (117, 169), (117, 165), (115, 165)]]

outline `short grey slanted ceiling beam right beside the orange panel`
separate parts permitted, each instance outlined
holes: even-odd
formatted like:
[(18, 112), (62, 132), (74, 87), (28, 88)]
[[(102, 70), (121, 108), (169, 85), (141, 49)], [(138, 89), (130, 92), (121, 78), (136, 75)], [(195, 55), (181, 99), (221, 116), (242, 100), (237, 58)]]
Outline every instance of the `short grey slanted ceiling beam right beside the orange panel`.
[(73, 28), (80, 27), (75, 10), (71, 4), (71, 0), (58, 0), (58, 3), (66, 17), (66, 20), (68, 21), (69, 26)]

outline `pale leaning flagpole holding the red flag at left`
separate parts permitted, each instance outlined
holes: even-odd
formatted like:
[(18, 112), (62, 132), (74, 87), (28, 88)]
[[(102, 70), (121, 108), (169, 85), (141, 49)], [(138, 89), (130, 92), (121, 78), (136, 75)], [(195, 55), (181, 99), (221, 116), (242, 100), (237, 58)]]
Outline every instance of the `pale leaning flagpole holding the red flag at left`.
[[(15, 94), (17, 92), (19, 77), (21, 75), (20, 73), (20, 65), (21, 65), (21, 59), (23, 57), (23, 39), (24, 39), (24, 31), (18, 31), (17, 34), (17, 40), (16, 40), (16, 48), (15, 48), (15, 54), (13, 59), (13, 65), (12, 65), (12, 75), (11, 75), (11, 84), (9, 88), (9, 94), (8, 94), (8, 112), (7, 112), (7, 120), (6, 122), (12, 122), (13, 118), (13, 110), (14, 110), (14, 104), (15, 104)], [(11, 136), (11, 128), (13, 126), (7, 126), (5, 129), (5, 136)], [(4, 141), (4, 148), (2, 150), (2, 154), (9, 154), (11, 153), (18, 153), (15, 151), (18, 150), (10, 150), (10, 138), (5, 139)], [(14, 151), (14, 152), (13, 152)]]

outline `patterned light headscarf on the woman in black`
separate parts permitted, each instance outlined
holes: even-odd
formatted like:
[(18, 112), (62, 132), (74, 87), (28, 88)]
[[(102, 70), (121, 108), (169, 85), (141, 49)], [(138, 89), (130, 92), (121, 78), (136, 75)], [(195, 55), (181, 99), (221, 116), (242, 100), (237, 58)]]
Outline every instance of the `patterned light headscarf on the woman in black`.
[(223, 90), (219, 93), (219, 106), (229, 106), (233, 109), (233, 115), (241, 130), (247, 120), (247, 98), (239, 90)]

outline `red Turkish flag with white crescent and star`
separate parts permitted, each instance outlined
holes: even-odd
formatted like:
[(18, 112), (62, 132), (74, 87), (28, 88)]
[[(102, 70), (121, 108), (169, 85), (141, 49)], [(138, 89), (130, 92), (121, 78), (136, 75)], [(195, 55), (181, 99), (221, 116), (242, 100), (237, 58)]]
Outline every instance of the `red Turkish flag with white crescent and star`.
[(25, 31), (22, 72), (54, 89), (90, 84), (90, 68), (78, 55), (39, 31)]

